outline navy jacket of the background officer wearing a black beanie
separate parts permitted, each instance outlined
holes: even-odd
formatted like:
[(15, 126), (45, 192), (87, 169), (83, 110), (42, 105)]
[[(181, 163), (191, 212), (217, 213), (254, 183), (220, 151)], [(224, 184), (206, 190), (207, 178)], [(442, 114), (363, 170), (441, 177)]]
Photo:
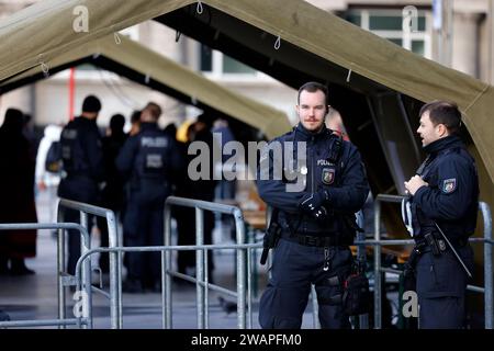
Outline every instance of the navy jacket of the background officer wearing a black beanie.
[(60, 134), (63, 174), (58, 196), (97, 203), (104, 179), (101, 134), (96, 120), (76, 117)]

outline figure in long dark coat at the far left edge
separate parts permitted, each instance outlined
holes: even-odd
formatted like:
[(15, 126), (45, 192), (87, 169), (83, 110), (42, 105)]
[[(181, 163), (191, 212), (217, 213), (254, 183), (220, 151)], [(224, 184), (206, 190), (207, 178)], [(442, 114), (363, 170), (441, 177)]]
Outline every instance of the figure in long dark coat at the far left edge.
[[(0, 223), (36, 223), (35, 157), (22, 133), (24, 115), (9, 109), (0, 127)], [(0, 233), (0, 274), (33, 274), (24, 263), (36, 256), (36, 230)], [(9, 267), (10, 261), (10, 267)]]

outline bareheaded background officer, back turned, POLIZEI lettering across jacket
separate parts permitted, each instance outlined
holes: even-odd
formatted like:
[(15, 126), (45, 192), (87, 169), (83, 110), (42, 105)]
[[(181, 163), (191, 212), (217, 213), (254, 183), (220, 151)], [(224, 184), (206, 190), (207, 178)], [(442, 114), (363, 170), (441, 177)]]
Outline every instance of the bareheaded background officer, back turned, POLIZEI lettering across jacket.
[[(181, 168), (175, 139), (158, 127), (161, 109), (148, 103), (141, 113), (141, 129), (124, 144), (116, 168), (128, 179), (130, 196), (124, 217), (128, 246), (164, 245), (164, 206), (171, 193), (172, 177)], [(124, 290), (142, 292), (145, 285), (159, 291), (160, 253), (128, 254)], [(145, 273), (150, 273), (150, 282)]]

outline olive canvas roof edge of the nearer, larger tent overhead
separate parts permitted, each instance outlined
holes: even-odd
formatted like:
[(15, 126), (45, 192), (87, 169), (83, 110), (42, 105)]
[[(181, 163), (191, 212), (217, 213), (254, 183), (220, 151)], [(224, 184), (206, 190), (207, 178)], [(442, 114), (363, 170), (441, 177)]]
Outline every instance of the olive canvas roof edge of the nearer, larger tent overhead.
[[(192, 0), (40, 2), (0, 24), (0, 79), (50, 60), (85, 42), (190, 4), (193, 8), (195, 3)], [(494, 138), (491, 137), (494, 127), (490, 123), (494, 90), (489, 84), (418, 57), (301, 0), (204, 0), (202, 3), (270, 36), (279, 36), (281, 48), (290, 44), (336, 65), (338, 69), (333, 78), (338, 83), (344, 84), (351, 70), (356, 90), (382, 86), (423, 102), (456, 101), (491, 182), (494, 180)], [(72, 30), (72, 11), (77, 5), (88, 9), (91, 23), (88, 33)], [(300, 70), (304, 70), (304, 64), (300, 65)], [(367, 80), (375, 84), (367, 84)]]

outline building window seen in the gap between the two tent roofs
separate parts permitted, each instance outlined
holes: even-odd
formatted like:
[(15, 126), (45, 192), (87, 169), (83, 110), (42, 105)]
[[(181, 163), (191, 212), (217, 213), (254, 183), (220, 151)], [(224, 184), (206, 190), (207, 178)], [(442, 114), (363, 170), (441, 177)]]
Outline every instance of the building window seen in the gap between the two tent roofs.
[(258, 71), (236, 59), (213, 50), (205, 45), (200, 45), (200, 69), (202, 72), (215, 78), (235, 77), (257, 77)]

